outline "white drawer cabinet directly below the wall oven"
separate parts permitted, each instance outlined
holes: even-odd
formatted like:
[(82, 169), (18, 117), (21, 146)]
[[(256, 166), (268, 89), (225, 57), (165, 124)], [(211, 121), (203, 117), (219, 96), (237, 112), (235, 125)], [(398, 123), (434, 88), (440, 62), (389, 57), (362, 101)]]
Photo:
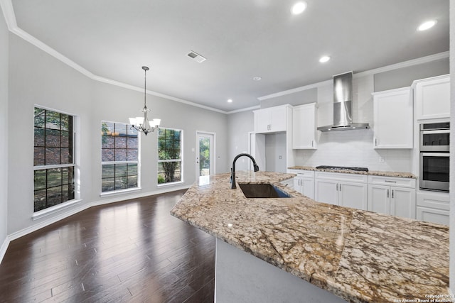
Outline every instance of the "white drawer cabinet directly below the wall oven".
[(417, 220), (449, 225), (449, 210), (449, 193), (417, 192)]

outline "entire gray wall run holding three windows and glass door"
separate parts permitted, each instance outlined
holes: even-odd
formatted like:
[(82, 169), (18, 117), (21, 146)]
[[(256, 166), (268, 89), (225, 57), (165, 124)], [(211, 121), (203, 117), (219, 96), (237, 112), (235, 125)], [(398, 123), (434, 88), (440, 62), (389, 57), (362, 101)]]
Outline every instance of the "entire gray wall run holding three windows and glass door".
[[(4, 44), (1, 45), (3, 47)], [(129, 116), (137, 116), (139, 113), (144, 94), (92, 80), (14, 34), (9, 35), (9, 45), (9, 65), (14, 69), (9, 70), (8, 113), (10, 121), (18, 123), (9, 131), (9, 199), (8, 206), (2, 207), (0, 211), (4, 214), (3, 210), (8, 209), (7, 234), (33, 231), (37, 226), (44, 226), (46, 222), (63, 218), (93, 203), (157, 193), (155, 132), (148, 136), (141, 135), (141, 190), (134, 194), (100, 197), (101, 121), (127, 123)], [(3, 92), (3, 89), (1, 91)], [(154, 96), (147, 96), (147, 104), (152, 110), (151, 117), (161, 119), (161, 126), (183, 129), (184, 183), (178, 184), (178, 187), (166, 185), (161, 187), (161, 192), (189, 187), (196, 180), (196, 155), (193, 152), (196, 131), (216, 133), (215, 172), (229, 170), (227, 115)], [(76, 116), (76, 140), (80, 148), (80, 153), (76, 155), (80, 171), (80, 187), (77, 187), (77, 191), (81, 201), (33, 221), (35, 105)]]

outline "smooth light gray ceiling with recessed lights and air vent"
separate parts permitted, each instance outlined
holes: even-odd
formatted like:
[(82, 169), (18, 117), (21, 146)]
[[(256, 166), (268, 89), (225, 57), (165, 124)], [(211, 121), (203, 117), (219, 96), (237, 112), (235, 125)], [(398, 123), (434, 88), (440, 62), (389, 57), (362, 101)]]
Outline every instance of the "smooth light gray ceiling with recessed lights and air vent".
[[(298, 16), (291, 0), (1, 1), (18, 28), (97, 77), (143, 89), (146, 65), (150, 91), (226, 112), (449, 50), (449, 0), (306, 0)], [(437, 25), (416, 31), (428, 19)]]

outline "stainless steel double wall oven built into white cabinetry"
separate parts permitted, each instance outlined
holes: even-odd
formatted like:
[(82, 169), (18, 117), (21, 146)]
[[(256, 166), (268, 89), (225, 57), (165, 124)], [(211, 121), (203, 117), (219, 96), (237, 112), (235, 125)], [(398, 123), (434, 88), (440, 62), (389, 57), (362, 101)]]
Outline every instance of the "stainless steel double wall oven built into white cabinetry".
[(449, 192), (450, 123), (420, 124), (420, 189)]

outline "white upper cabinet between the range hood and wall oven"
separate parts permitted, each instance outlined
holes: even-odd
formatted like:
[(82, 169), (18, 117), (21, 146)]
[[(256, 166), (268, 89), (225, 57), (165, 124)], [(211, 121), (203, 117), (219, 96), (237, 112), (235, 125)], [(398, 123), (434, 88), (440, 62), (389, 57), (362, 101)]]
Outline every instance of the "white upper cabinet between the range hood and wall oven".
[(413, 148), (412, 88), (373, 93), (374, 148)]

